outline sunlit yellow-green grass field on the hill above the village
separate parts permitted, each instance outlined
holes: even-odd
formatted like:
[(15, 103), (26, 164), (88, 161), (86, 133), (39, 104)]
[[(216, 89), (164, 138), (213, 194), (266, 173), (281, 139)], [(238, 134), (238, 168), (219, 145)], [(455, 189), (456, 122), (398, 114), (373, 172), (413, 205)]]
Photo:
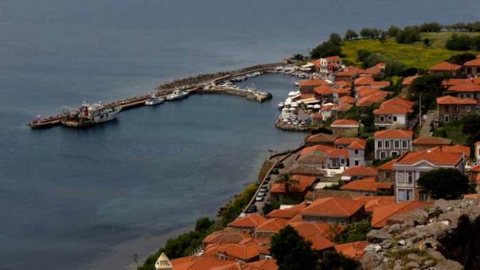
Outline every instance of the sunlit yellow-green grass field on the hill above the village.
[[(480, 35), (480, 33), (466, 34), (471, 36)], [(451, 35), (452, 32), (422, 33), (422, 38), (430, 38), (430, 41), (432, 41), (430, 48), (426, 48), (421, 41), (415, 44), (398, 44), (393, 38), (388, 38), (384, 43), (373, 39), (344, 41), (342, 43), (342, 53), (346, 55), (347, 60), (359, 63), (357, 52), (359, 50), (369, 50), (373, 53), (379, 53), (388, 58), (399, 60), (409, 68), (428, 69), (432, 65), (450, 58), (452, 55), (466, 53), (465, 51), (444, 49), (444, 43)]]

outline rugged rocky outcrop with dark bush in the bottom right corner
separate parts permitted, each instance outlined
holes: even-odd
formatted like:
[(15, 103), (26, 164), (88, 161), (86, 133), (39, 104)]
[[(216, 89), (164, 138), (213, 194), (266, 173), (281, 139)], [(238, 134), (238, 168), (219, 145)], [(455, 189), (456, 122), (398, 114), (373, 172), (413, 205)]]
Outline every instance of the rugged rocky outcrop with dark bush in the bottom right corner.
[(396, 221), (402, 223), (369, 232), (363, 269), (480, 269), (476, 200), (437, 200)]

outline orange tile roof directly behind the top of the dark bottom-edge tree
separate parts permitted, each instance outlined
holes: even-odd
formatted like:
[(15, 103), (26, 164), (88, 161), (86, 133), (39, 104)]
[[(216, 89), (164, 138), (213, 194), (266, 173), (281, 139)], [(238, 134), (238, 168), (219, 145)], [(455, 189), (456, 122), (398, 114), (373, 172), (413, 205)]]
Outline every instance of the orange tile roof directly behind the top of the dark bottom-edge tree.
[(334, 242), (324, 237), (322, 234), (325, 232), (325, 227), (329, 229), (329, 225), (322, 225), (319, 223), (311, 222), (295, 222), (291, 224), (292, 227), (300, 234), (303, 238), (312, 242), (312, 249), (321, 251), (324, 249), (329, 249), (334, 247)]

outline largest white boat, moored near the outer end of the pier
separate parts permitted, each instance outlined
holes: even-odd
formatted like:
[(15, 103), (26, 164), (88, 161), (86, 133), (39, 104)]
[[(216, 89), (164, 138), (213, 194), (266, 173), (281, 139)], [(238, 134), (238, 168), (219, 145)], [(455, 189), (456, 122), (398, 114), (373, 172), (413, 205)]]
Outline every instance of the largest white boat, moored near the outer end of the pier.
[(116, 118), (121, 106), (105, 106), (102, 103), (84, 103), (78, 109), (64, 108), (61, 122), (65, 126), (84, 127), (103, 123)]

